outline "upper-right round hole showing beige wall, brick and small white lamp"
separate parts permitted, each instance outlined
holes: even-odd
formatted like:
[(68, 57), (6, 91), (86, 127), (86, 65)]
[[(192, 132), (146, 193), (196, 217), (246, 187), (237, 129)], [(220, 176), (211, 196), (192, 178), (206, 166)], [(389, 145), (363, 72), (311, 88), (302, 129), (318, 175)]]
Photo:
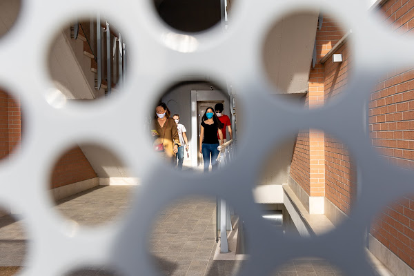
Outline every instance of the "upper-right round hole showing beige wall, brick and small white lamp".
[(268, 30), (262, 48), (273, 94), (303, 108), (337, 99), (353, 72), (353, 44), (348, 38), (345, 22), (324, 11), (284, 15)]

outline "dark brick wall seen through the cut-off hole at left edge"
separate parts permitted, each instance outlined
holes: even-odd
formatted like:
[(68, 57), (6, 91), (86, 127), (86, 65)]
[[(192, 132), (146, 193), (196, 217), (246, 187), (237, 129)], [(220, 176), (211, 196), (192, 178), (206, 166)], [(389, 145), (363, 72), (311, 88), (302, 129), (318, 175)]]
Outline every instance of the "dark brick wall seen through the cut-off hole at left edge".
[(0, 90), (0, 159), (7, 158), (20, 147), (20, 103)]

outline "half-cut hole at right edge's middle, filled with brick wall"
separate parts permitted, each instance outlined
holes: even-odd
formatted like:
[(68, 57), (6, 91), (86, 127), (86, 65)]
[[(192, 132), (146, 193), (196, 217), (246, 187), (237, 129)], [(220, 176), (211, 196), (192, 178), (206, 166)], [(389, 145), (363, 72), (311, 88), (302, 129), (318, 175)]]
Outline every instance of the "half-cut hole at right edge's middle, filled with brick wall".
[(414, 170), (414, 68), (390, 68), (368, 103), (371, 144), (386, 161)]

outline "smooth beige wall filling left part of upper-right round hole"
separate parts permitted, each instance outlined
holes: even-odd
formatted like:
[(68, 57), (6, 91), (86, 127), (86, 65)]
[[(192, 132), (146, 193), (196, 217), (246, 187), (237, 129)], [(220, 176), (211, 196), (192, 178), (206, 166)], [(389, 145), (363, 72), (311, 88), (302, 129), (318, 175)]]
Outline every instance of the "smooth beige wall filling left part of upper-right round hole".
[(288, 14), (269, 30), (264, 66), (278, 93), (308, 90), (319, 10)]

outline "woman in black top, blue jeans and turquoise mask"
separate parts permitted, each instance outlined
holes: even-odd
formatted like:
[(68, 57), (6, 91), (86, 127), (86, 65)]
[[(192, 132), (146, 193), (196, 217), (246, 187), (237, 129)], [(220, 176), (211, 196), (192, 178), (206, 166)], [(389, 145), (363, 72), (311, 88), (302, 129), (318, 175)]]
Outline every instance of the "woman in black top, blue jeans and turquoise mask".
[[(208, 166), (210, 166), (210, 153), (211, 153), (211, 168), (217, 170), (217, 156), (219, 150), (217, 147), (223, 144), (223, 124), (219, 121), (219, 118), (215, 115), (214, 109), (208, 107), (203, 115), (200, 127), (200, 153), (203, 155), (204, 160), (204, 172), (208, 172)], [(219, 133), (219, 139), (217, 138), (217, 132)]]

